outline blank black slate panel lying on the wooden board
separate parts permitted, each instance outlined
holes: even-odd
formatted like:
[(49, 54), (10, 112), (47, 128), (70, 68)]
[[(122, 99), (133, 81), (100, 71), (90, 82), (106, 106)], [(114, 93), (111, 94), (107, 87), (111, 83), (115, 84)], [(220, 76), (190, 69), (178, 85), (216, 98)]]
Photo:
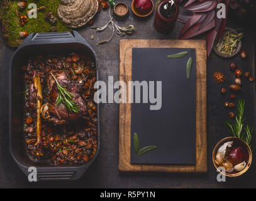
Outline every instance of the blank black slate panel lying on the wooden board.
[[(196, 50), (192, 52), (189, 80), (186, 63), (191, 54), (167, 58), (190, 50), (194, 49), (133, 48), (132, 80), (162, 81), (162, 107), (150, 110), (150, 103), (142, 103), (142, 90), (141, 103), (131, 104), (131, 164), (196, 164)], [(136, 155), (134, 133), (138, 134), (140, 148), (158, 148)]]

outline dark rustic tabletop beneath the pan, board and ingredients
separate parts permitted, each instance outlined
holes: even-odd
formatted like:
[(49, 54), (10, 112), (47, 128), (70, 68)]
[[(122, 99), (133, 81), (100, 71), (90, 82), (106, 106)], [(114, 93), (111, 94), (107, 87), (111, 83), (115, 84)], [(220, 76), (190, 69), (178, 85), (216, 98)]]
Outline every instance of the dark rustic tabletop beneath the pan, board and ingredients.
[[(126, 0), (130, 4), (129, 0)], [(177, 23), (174, 31), (169, 35), (162, 35), (153, 28), (154, 13), (147, 19), (138, 19), (132, 13), (125, 21), (118, 24), (125, 26), (133, 24), (135, 33), (125, 38), (133, 39), (177, 39), (182, 28)], [(96, 16), (94, 25), (103, 26), (107, 21), (108, 11), (101, 11)], [(238, 25), (229, 24), (233, 28)], [(108, 82), (108, 75), (119, 79), (119, 35), (114, 35), (109, 43), (95, 46), (98, 40), (103, 40), (111, 35), (111, 26), (102, 33), (96, 33), (89, 27), (79, 29), (79, 33), (94, 48), (99, 59), (99, 79)], [(14, 49), (4, 45), (0, 37), (0, 187), (26, 188), (26, 187), (81, 187), (81, 188), (230, 188), (230, 187), (256, 187), (256, 168), (252, 163), (250, 170), (239, 178), (226, 178), (226, 182), (217, 182), (217, 172), (211, 161), (214, 145), (222, 138), (229, 136), (224, 122), (228, 119), (228, 111), (223, 108), (223, 102), (228, 97), (220, 95), (221, 87), (228, 87), (233, 82), (233, 75), (228, 70), (228, 63), (236, 61), (243, 72), (250, 70), (254, 73), (253, 32), (246, 30), (242, 48), (250, 53), (247, 61), (242, 61), (238, 56), (223, 60), (211, 53), (208, 58), (208, 172), (207, 173), (123, 173), (118, 171), (118, 131), (119, 131), (119, 106), (118, 104), (101, 104), (101, 149), (96, 160), (86, 171), (84, 176), (73, 182), (37, 182), (30, 183), (18, 166), (14, 163), (9, 153), (8, 145), (8, 115), (9, 115), (9, 60)], [(255, 32), (254, 32), (255, 33)], [(91, 40), (94, 35), (94, 40)], [(205, 39), (206, 36), (200, 36)], [(213, 72), (220, 70), (227, 75), (223, 86), (214, 84), (211, 79)], [(255, 84), (243, 84), (242, 93), (238, 97), (247, 103), (246, 115), (248, 122), (255, 125)], [(21, 106), (23, 107), (23, 106)], [(256, 143), (253, 134), (254, 147)], [(255, 157), (253, 157), (255, 160)], [(254, 161), (253, 161), (254, 162)]]

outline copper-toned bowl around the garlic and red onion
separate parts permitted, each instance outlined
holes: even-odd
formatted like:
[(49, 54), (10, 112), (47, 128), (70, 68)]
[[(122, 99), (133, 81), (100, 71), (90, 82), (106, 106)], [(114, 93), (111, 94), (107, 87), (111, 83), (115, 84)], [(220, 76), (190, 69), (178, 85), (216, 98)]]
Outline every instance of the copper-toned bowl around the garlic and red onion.
[[(243, 168), (242, 171), (239, 171), (237, 173), (228, 173), (228, 172), (225, 172), (223, 173), (222, 171), (220, 171), (218, 169), (218, 165), (216, 164), (215, 162), (215, 156), (216, 156), (216, 153), (217, 153), (217, 150), (218, 148), (220, 148), (220, 146), (224, 143), (226, 143), (227, 141), (234, 141), (234, 144), (236, 144), (236, 142), (242, 144), (242, 146), (244, 148), (247, 149), (247, 152), (248, 152), (248, 161), (247, 161), (247, 165), (245, 166), (245, 168)], [(228, 138), (224, 138), (224, 139), (221, 139), (221, 141), (219, 141), (215, 146), (214, 146), (214, 149), (213, 149), (213, 165), (214, 167), (216, 168), (216, 170), (218, 170), (221, 174), (223, 175), (226, 175), (227, 177), (238, 177), (240, 175), (243, 175), (243, 173), (245, 173), (249, 168), (250, 166), (252, 165), (252, 150), (250, 148), (250, 146), (248, 146), (247, 143), (245, 143), (245, 141), (243, 141), (242, 139), (240, 138), (236, 138), (236, 137), (228, 137)]]

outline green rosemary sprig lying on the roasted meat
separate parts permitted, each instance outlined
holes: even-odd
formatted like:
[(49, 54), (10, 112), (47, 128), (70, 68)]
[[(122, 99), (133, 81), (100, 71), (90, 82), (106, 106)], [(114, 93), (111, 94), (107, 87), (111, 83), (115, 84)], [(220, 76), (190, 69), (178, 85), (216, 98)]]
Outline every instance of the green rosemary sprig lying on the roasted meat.
[(73, 94), (71, 94), (67, 89), (65, 89), (65, 86), (62, 86), (58, 83), (58, 80), (55, 78), (55, 76), (52, 74), (53, 79), (55, 79), (55, 82), (57, 84), (58, 88), (58, 97), (56, 100), (57, 106), (60, 104), (64, 104), (64, 106), (70, 111), (78, 113), (80, 112), (79, 107), (77, 106), (76, 102), (71, 100), (72, 97), (74, 97)]

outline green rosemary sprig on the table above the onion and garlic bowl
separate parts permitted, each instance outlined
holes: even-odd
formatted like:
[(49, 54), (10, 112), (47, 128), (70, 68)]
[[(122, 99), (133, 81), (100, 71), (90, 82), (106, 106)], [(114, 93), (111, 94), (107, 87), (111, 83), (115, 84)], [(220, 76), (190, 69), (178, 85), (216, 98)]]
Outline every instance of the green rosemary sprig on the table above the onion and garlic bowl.
[(243, 112), (245, 111), (245, 100), (238, 100), (237, 102), (237, 114), (235, 117), (235, 123), (226, 121), (225, 124), (230, 128), (230, 133), (240, 139), (243, 139), (249, 146), (252, 146), (252, 132), (253, 128), (246, 125), (243, 129), (245, 117)]

